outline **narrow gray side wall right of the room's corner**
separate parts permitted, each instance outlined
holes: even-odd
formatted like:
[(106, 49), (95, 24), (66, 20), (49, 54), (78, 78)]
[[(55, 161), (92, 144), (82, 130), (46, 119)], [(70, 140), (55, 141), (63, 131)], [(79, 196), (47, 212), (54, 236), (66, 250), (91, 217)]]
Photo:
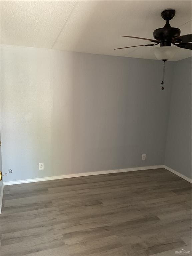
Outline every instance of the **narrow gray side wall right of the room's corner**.
[(165, 165), (191, 178), (191, 58), (174, 63)]

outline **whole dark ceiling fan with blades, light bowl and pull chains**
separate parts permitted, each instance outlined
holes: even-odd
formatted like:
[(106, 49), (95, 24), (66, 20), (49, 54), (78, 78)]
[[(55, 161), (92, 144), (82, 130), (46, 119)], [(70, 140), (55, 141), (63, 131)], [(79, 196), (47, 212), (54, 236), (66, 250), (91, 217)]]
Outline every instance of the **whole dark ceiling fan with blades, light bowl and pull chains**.
[[(128, 46), (128, 47), (121, 47), (115, 48), (114, 50), (118, 49), (125, 49), (125, 48), (132, 48), (138, 46), (154, 46), (160, 44), (160, 47), (154, 48), (154, 54), (157, 59), (162, 60), (164, 62), (164, 69), (163, 69), (163, 81), (164, 83), (164, 74), (165, 74), (165, 61), (172, 58), (174, 54), (178, 51), (178, 48), (184, 48), (192, 50), (192, 34), (180, 36), (181, 30), (179, 28), (173, 28), (170, 26), (169, 21), (175, 16), (174, 9), (166, 9), (161, 13), (161, 17), (166, 20), (166, 24), (163, 28), (157, 28), (153, 31), (154, 39), (142, 38), (142, 37), (135, 37), (135, 36), (123, 36), (129, 38), (137, 38), (142, 40), (150, 41), (154, 44), (142, 44), (142, 45), (135, 45), (135, 46)], [(177, 47), (171, 47), (171, 44)], [(164, 87), (162, 86), (162, 90)]]

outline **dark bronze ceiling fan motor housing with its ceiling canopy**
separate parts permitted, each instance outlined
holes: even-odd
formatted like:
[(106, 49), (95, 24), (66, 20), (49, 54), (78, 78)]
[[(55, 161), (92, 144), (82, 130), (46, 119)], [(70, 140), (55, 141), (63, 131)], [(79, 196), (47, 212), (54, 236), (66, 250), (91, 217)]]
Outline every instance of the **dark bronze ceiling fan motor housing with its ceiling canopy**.
[(175, 10), (167, 9), (161, 13), (161, 17), (166, 20), (166, 24), (163, 28), (155, 29), (153, 37), (160, 41), (161, 46), (171, 46), (172, 38), (178, 37), (181, 34), (179, 28), (172, 28), (169, 21), (175, 16)]

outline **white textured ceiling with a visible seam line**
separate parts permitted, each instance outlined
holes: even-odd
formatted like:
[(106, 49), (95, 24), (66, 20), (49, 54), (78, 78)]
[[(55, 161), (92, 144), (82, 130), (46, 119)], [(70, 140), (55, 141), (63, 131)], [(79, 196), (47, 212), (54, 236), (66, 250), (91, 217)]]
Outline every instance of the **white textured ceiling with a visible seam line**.
[[(155, 59), (148, 41), (163, 27), (161, 12), (176, 10), (170, 24), (191, 33), (191, 1), (1, 1), (1, 44)], [(191, 56), (179, 49), (172, 61)]]

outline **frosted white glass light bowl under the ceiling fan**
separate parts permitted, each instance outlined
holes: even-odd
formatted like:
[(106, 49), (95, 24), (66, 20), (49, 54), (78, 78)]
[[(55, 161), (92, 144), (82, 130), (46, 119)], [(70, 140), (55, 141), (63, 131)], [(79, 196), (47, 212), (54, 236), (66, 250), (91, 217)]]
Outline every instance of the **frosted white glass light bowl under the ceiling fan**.
[(158, 60), (170, 60), (178, 50), (178, 47), (174, 46), (160, 46), (155, 47), (153, 52)]

